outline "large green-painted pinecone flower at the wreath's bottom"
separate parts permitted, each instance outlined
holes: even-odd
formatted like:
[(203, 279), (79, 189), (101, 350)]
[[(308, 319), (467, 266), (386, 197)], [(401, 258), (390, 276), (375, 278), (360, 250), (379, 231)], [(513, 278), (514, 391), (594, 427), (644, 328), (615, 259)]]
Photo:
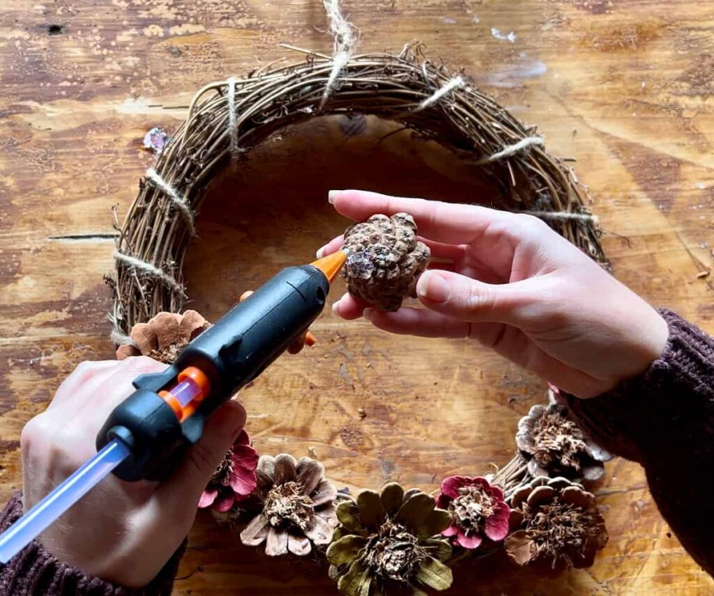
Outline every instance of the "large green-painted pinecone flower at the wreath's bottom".
[(397, 483), (381, 493), (364, 490), (356, 501), (341, 503), (341, 525), (327, 550), (338, 590), (367, 596), (401, 588), (416, 596), (423, 595), (423, 587), (451, 586), (451, 569), (443, 563), (451, 556), (451, 546), (435, 538), (451, 517), (435, 504), (421, 490), (404, 493)]

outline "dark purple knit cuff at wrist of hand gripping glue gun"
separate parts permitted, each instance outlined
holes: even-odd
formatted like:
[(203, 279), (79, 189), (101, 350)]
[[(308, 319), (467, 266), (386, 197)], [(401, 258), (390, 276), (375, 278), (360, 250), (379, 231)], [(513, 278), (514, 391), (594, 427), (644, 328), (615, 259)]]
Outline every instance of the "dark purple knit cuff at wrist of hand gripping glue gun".
[[(0, 532), (23, 513), (22, 495), (15, 493), (0, 512)], [(13, 596), (169, 596), (186, 550), (186, 541), (164, 565), (154, 580), (141, 588), (131, 588), (89, 577), (76, 567), (54, 558), (34, 540), (6, 565), (0, 564), (0, 594)]]

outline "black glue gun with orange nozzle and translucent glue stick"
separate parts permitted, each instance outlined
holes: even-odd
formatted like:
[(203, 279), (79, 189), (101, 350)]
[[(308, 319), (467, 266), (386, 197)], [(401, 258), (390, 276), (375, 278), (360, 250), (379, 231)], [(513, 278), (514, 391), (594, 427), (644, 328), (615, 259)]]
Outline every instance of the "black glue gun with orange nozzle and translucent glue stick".
[(96, 437), (96, 456), (0, 535), (0, 563), (109, 473), (124, 481), (169, 476), (203, 435), (206, 419), (308, 331), (345, 260), (338, 251), (283, 269), (193, 339), (165, 371), (134, 379), (136, 391)]

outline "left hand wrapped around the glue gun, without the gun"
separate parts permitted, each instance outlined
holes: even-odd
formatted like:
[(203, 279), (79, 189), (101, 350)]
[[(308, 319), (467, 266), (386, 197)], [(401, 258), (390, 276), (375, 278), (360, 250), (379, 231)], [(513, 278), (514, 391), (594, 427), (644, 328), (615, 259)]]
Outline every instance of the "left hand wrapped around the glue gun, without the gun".
[[(96, 434), (134, 391), (131, 381), (165, 368), (137, 356), (83, 362), (75, 369), (46, 411), (22, 431), (25, 510), (94, 456)], [(229, 401), (211, 416), (169, 480), (129, 483), (110, 474), (47, 528), (40, 542), (92, 577), (130, 587), (148, 584), (188, 534), (203, 488), (245, 421), (243, 406)]]

